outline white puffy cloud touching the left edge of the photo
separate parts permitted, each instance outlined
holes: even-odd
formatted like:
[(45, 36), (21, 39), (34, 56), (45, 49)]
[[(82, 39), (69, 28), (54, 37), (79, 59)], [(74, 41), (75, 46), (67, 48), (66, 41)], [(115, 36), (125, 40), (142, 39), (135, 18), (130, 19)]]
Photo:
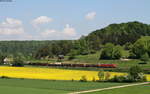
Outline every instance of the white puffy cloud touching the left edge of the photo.
[(22, 22), (13, 18), (6, 18), (0, 23), (0, 35), (20, 35), (24, 33)]

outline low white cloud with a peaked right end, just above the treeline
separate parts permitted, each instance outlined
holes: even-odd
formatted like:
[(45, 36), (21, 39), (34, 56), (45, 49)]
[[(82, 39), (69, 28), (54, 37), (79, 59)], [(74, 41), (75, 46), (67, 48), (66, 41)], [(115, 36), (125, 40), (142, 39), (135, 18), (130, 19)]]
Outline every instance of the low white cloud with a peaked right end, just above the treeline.
[(40, 35), (43, 38), (49, 38), (53, 40), (74, 39), (76, 37), (76, 30), (73, 27), (70, 27), (69, 24), (66, 24), (65, 28), (62, 31), (50, 29), (50, 30), (45, 30), (44, 32), (41, 32)]

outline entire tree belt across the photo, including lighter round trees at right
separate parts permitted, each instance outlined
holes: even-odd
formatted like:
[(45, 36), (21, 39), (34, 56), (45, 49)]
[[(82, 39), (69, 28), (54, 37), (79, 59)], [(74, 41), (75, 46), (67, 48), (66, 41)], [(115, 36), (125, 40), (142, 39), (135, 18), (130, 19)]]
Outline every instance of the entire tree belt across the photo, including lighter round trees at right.
[[(57, 41), (0, 41), (0, 55), (26, 58), (54, 58), (58, 55), (93, 54), (101, 50), (100, 59), (119, 59), (122, 50), (130, 52), (129, 58), (150, 56), (150, 25), (140, 22), (110, 24), (78, 40)], [(146, 37), (143, 37), (146, 36)], [(2, 56), (1, 56), (2, 57)]]

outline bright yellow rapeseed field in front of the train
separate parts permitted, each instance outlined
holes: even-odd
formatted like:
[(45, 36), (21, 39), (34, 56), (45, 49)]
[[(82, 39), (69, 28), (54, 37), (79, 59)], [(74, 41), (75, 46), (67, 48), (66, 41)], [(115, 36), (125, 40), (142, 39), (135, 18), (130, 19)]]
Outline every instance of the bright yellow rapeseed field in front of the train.
[[(111, 77), (114, 75), (126, 75), (125, 73), (110, 72)], [(47, 79), (47, 80), (80, 80), (82, 76), (86, 76), (87, 80), (93, 78), (98, 79), (97, 71), (82, 70), (65, 70), (55, 68), (38, 68), (38, 67), (0, 67), (0, 76), (8, 76), (13, 78), (28, 79)], [(147, 75), (150, 81), (150, 75)]]

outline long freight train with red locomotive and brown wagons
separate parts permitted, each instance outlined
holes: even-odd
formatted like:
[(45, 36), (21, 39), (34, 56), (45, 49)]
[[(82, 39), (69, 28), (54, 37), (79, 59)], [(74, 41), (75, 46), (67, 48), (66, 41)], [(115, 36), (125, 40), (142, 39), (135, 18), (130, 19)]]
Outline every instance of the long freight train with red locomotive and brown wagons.
[(28, 63), (32, 66), (117, 68), (116, 64)]

